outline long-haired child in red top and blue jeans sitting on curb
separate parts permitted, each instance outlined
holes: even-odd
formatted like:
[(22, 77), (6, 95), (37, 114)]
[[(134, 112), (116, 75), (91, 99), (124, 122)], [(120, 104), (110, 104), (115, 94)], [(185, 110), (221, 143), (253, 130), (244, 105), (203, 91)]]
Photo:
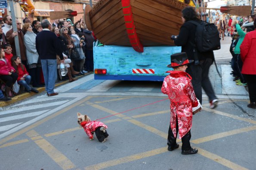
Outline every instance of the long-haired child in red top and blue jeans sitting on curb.
[(15, 68), (16, 73), (18, 74), (18, 84), (25, 87), (26, 92), (35, 92), (38, 93), (37, 89), (32, 88), (29, 86), (31, 81), (31, 76), (28, 75), (26, 67), (22, 64), (22, 60), (18, 56), (12, 57), (12, 66)]

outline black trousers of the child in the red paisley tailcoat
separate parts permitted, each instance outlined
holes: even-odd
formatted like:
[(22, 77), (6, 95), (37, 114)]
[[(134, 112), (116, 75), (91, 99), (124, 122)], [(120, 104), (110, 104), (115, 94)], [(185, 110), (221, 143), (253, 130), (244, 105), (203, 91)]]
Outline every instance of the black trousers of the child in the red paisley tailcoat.
[[(177, 135), (176, 135), (176, 137), (174, 137), (173, 131), (171, 129), (171, 125), (169, 126), (167, 145), (171, 146), (172, 148), (175, 147), (176, 139), (177, 139), (177, 136), (178, 136), (178, 131), (179, 131), (178, 119), (176, 119), (176, 131), (177, 131)], [(181, 138), (181, 140), (182, 140), (182, 148), (181, 149), (182, 150), (189, 150), (189, 149), (191, 149), (190, 142), (189, 142), (190, 139), (191, 139), (191, 133), (190, 133), (190, 131), (188, 131), (188, 133), (185, 134)]]

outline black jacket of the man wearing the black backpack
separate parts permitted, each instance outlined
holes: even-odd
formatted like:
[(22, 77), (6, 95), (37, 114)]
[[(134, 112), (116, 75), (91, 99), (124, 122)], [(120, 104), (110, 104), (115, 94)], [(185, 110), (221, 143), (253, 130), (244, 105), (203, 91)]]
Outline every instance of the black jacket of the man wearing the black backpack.
[[(202, 22), (197, 20), (198, 23)], [(185, 22), (179, 31), (179, 36), (174, 43), (177, 46), (182, 46), (182, 52), (186, 52), (188, 60), (194, 60), (193, 45), (195, 44), (196, 25), (191, 22)], [(192, 45), (193, 44), (193, 45)], [(199, 60), (205, 58), (214, 58), (213, 51), (197, 52)]]

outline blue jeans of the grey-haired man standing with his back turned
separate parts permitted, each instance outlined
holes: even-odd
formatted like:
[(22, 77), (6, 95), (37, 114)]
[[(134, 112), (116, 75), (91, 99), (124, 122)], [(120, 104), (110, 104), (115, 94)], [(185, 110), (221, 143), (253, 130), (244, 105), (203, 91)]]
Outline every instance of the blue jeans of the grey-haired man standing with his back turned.
[(52, 94), (57, 79), (57, 60), (41, 60), (41, 64), (46, 92)]

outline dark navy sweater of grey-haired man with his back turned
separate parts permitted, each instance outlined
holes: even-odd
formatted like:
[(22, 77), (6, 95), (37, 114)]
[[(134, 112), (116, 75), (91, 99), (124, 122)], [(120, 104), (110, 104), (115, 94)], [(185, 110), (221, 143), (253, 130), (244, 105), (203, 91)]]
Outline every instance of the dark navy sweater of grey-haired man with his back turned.
[(41, 60), (56, 60), (56, 55), (59, 55), (60, 59), (63, 60), (60, 41), (56, 34), (51, 31), (43, 30), (37, 34), (36, 48)]

